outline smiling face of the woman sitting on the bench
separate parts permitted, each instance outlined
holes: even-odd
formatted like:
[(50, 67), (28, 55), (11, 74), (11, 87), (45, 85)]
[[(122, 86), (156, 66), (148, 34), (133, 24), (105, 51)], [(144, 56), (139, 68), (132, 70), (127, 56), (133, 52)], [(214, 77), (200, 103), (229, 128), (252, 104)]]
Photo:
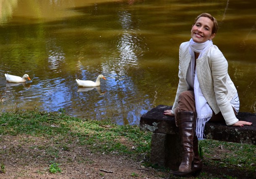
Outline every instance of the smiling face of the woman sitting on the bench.
[(215, 34), (212, 34), (213, 21), (208, 17), (200, 17), (191, 29), (191, 38), (194, 42), (204, 43), (212, 40)]

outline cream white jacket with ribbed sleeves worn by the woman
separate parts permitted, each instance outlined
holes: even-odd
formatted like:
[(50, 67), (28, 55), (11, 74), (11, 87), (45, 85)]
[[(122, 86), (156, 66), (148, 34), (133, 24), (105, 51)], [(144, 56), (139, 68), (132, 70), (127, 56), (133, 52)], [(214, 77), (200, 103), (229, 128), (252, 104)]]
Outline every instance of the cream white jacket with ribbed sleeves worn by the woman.
[[(179, 84), (172, 106), (172, 113), (178, 106), (180, 93), (187, 91), (189, 85), (186, 81), (188, 66), (191, 61), (189, 42), (183, 42), (179, 51)], [(215, 114), (221, 112), (227, 125), (238, 122), (230, 104), (237, 93), (234, 83), (227, 73), (227, 60), (216, 45), (213, 45), (196, 60), (196, 72), (202, 93)]]

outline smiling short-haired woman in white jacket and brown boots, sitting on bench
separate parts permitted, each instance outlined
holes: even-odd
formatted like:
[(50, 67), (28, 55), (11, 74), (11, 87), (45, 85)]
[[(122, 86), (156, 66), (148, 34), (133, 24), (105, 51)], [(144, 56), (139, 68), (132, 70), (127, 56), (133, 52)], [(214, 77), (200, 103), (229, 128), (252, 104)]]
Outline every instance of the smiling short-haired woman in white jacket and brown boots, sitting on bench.
[(178, 176), (198, 173), (202, 161), (198, 137), (204, 136), (208, 121), (225, 120), (228, 126), (243, 127), (251, 122), (239, 121), (238, 93), (227, 73), (227, 60), (212, 39), (218, 30), (217, 20), (208, 13), (199, 15), (191, 29), (191, 40), (180, 45), (179, 84), (172, 110), (183, 147)]

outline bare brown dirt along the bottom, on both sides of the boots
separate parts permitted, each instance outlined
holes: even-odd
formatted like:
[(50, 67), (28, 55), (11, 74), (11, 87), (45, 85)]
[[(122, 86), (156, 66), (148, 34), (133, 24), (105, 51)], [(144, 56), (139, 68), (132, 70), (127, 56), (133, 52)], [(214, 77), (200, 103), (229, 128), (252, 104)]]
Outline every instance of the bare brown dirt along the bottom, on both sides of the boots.
[[(49, 155), (38, 139), (21, 139), (13, 136), (0, 136), (1, 165), (5, 173), (0, 179), (172, 179), (179, 178), (159, 169), (144, 168), (144, 157), (132, 159), (117, 153), (91, 153), (84, 146), (68, 145), (68, 150), (59, 150), (58, 157)], [(11, 142), (10, 142), (11, 141)], [(34, 141), (34, 142), (33, 142)], [(43, 141), (40, 139), (40, 141)], [(44, 141), (45, 145), (53, 145)], [(35, 147), (37, 146), (37, 147)], [(41, 146), (39, 148), (38, 146)], [(55, 145), (54, 145), (55, 146)], [(53, 148), (54, 148), (53, 146)], [(145, 159), (146, 160), (146, 159)], [(60, 163), (60, 173), (51, 174), (49, 161)], [(204, 166), (200, 178), (234, 179), (253, 178), (248, 174), (230, 168)], [(212, 177), (211, 177), (212, 176)], [(193, 177), (189, 177), (193, 178)]]

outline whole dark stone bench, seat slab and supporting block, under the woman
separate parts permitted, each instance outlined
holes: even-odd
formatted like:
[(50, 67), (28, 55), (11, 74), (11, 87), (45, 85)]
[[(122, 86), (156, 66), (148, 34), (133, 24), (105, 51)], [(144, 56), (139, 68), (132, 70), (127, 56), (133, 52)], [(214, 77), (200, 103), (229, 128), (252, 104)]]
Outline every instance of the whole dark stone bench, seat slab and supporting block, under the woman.
[[(172, 169), (179, 166), (182, 149), (174, 117), (163, 114), (167, 109), (172, 109), (172, 106), (159, 105), (143, 114), (140, 130), (153, 132), (150, 162)], [(225, 122), (208, 122), (205, 125), (204, 138), (256, 145), (256, 114), (239, 112), (237, 117), (239, 120), (253, 122), (253, 125), (231, 127)]]

